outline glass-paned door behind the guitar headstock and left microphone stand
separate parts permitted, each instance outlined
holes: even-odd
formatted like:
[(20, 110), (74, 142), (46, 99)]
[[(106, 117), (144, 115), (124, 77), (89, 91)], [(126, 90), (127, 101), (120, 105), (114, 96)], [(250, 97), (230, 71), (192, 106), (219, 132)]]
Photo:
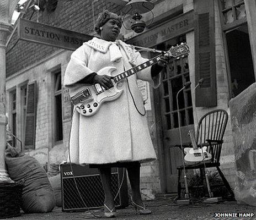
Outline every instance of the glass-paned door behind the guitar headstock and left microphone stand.
[[(157, 45), (159, 50), (167, 51), (171, 46), (185, 42), (185, 36), (176, 37)], [(163, 131), (164, 167), (166, 172), (167, 193), (177, 193), (177, 166), (182, 165), (182, 151), (175, 145), (180, 145), (178, 114), (180, 115), (180, 130), (183, 144), (188, 144), (188, 131), (194, 130), (193, 106), (190, 87), (180, 92), (178, 105), (176, 95), (183, 84), (190, 81), (188, 57), (170, 59), (162, 74), (159, 87), (161, 118)]]

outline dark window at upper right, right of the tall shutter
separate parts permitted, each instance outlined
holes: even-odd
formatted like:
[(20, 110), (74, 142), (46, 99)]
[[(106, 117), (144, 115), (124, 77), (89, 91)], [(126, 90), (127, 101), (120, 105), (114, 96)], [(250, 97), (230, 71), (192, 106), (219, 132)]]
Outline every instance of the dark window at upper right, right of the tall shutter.
[(252, 52), (243, 0), (221, 0), (230, 97), (255, 82)]

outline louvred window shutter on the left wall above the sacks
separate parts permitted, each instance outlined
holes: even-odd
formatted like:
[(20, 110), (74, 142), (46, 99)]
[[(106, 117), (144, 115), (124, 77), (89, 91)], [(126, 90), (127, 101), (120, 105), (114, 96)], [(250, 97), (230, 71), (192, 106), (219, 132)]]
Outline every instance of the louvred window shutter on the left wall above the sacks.
[(25, 149), (35, 149), (36, 126), (36, 81), (28, 84), (26, 90)]

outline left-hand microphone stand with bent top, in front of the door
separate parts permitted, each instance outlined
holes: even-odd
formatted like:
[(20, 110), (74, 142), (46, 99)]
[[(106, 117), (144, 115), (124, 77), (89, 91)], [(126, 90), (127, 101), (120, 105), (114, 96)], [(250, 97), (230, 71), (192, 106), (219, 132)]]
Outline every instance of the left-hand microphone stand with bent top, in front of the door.
[(180, 92), (182, 92), (184, 89), (188, 88), (191, 85), (191, 82), (188, 81), (184, 84), (182, 89), (180, 89), (177, 92), (176, 95), (176, 102), (177, 102), (177, 111), (178, 111), (178, 125), (179, 125), (179, 140), (180, 140), (180, 148), (181, 148), (181, 153), (182, 153), (182, 163), (183, 163), (183, 171), (184, 171), (184, 183), (185, 183), (185, 199), (177, 200), (178, 205), (189, 205), (190, 200), (189, 200), (189, 189), (188, 189), (188, 182), (186, 180), (186, 169), (185, 169), (185, 161), (184, 161), (184, 155), (183, 155), (183, 144), (182, 144), (182, 130), (180, 129), (181, 123), (180, 123), (180, 115), (179, 115), (179, 101), (178, 101), (178, 96)]

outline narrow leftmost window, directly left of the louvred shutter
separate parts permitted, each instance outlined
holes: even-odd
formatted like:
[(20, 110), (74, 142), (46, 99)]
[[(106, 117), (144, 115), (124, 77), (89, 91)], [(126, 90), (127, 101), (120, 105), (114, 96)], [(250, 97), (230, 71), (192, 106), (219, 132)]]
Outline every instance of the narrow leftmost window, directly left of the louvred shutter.
[[(10, 131), (16, 136), (17, 135), (17, 98), (16, 98), (16, 89), (12, 92), (10, 92), (10, 114), (11, 114), (11, 118), (10, 118)], [(13, 138), (13, 147), (15, 147), (16, 141)]]

